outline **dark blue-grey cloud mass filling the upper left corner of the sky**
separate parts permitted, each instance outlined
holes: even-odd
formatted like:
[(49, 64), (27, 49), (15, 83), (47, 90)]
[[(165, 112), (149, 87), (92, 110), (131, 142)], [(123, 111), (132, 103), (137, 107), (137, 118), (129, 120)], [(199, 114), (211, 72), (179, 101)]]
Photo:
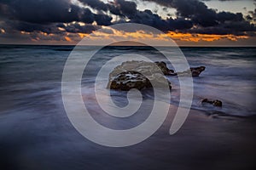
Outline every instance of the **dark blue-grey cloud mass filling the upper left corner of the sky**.
[[(111, 16), (93, 14), (89, 8), (80, 8), (69, 0), (0, 1), (0, 9), (0, 17), (3, 19), (1, 27), (12, 34), (16, 31), (30, 32), (31, 35), (38, 35), (32, 32), (44, 32), (60, 36), (65, 32), (91, 33), (101, 26), (111, 25), (112, 20)], [(91, 25), (94, 21), (98, 26)], [(80, 26), (77, 22), (84, 22), (86, 26)]]

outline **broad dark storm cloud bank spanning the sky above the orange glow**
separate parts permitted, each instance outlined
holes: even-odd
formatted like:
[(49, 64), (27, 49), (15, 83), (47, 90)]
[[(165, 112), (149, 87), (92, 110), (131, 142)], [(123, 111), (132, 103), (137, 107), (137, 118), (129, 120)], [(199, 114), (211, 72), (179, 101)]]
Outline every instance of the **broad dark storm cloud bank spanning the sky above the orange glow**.
[[(0, 28), (10, 31), (47, 34), (90, 33), (115, 23), (140, 23), (161, 31), (201, 34), (254, 35), (256, 12), (218, 12), (200, 0), (143, 0), (161, 8), (176, 9), (176, 16), (162, 17), (153, 9), (140, 10), (131, 0), (0, 0)], [(83, 23), (83, 24), (81, 24)]]

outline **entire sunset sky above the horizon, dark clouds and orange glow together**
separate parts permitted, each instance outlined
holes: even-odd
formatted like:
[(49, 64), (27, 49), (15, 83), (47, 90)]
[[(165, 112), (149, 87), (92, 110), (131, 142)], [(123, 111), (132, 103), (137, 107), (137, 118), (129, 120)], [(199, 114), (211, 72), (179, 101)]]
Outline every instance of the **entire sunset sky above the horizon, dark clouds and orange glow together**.
[[(179, 46), (256, 46), (255, 7), (256, 0), (0, 0), (0, 43), (75, 45), (118, 36), (160, 45), (169, 37)], [(109, 27), (124, 23), (162, 34)]]

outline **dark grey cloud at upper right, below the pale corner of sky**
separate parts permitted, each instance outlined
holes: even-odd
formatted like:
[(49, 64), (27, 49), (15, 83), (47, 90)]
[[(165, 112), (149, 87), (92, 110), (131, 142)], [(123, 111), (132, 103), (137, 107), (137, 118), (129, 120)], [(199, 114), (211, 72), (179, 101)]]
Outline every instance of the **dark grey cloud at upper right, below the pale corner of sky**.
[[(243, 35), (245, 31), (255, 31), (255, 26), (243, 18), (241, 13), (217, 12), (199, 0), (143, 0), (158, 3), (163, 7), (176, 8), (177, 17), (190, 20), (183, 22), (180, 27), (189, 27), (192, 24), (195, 28), (189, 32), (210, 33), (210, 34), (235, 34)], [(251, 18), (255, 11), (249, 12)], [(250, 19), (250, 17), (247, 17)], [(185, 27), (184, 27), (185, 28)], [(190, 27), (191, 28), (191, 27)]]

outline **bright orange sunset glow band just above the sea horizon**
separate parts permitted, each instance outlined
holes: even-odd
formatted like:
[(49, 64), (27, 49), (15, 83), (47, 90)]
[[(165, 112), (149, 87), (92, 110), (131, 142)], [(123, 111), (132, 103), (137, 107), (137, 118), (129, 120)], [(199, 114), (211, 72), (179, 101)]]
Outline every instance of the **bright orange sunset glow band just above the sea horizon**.
[[(196, 34), (196, 33), (183, 33), (177, 31), (169, 31), (167, 33), (162, 34), (154, 34), (152, 32), (146, 31), (134, 31), (134, 32), (125, 32), (114, 30), (111, 27), (105, 27), (105, 30), (109, 31), (92, 31), (92, 33), (70, 33), (66, 32), (63, 36), (53, 33), (46, 33), (42, 31), (36, 32), (26, 32), (20, 31), (20, 34), (30, 37), (32, 42), (40, 42), (40, 41), (49, 41), (49, 42), (58, 42), (60, 40), (59, 36), (61, 36), (61, 42), (67, 43), (76, 43), (81, 39), (86, 38), (90, 42), (94, 44), (100, 44), (104, 41), (113, 41), (113, 42), (121, 42), (121, 41), (131, 41), (137, 42), (137, 40), (144, 39), (148, 42), (156, 42), (159, 45), (164, 45), (166, 41), (170, 41), (172, 38), (173, 41), (178, 44), (186, 44), (191, 43), (193, 45), (213, 42), (218, 43), (220, 40), (230, 41), (230, 42), (238, 42), (240, 39), (251, 39), (249, 36), (236, 36), (232, 34), (227, 35), (215, 35), (215, 34)], [(2, 31), (2, 30), (1, 30)], [(110, 32), (110, 33), (109, 33)], [(31, 37), (32, 36), (32, 37)], [(251, 40), (252, 41), (252, 40)], [(187, 43), (187, 44), (188, 44)]]

